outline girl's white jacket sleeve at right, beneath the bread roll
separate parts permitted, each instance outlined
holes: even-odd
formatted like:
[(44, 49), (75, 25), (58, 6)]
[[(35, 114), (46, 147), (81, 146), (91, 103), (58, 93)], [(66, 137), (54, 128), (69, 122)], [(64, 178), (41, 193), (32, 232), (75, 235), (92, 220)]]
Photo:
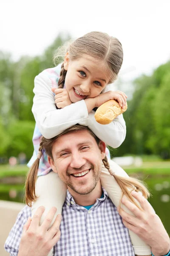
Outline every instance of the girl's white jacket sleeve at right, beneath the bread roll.
[[(113, 84), (109, 84), (103, 93), (113, 90)], [(88, 127), (96, 136), (112, 148), (118, 148), (126, 137), (126, 124), (123, 115), (117, 116), (110, 124), (101, 125), (94, 118), (94, 111), (89, 113)]]

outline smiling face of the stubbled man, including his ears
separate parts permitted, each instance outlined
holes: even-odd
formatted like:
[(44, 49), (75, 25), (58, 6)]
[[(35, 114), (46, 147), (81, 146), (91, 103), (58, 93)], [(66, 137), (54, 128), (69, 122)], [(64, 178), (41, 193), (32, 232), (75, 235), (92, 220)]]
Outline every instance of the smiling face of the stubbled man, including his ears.
[(105, 143), (97, 145), (87, 131), (71, 131), (61, 135), (53, 144), (51, 168), (74, 192), (90, 193), (99, 181), (102, 159), (105, 157)]

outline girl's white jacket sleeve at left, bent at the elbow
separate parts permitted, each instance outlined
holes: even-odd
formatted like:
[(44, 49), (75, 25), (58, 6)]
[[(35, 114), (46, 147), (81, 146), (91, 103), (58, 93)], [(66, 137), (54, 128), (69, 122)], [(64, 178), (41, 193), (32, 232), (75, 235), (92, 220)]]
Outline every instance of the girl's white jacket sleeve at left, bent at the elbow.
[(84, 100), (57, 109), (51, 80), (45, 72), (34, 80), (32, 112), (41, 134), (50, 139), (77, 123), (88, 126), (88, 110)]

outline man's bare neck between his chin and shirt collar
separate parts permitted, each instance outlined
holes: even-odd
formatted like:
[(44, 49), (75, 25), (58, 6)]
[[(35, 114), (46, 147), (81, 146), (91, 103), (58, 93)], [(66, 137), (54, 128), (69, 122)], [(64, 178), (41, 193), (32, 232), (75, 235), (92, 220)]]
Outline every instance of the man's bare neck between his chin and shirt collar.
[(82, 206), (88, 206), (96, 203), (96, 199), (100, 198), (102, 195), (102, 187), (100, 184), (100, 180), (98, 181), (96, 187), (94, 190), (92, 190), (89, 194), (87, 195), (80, 195), (77, 192), (75, 192), (73, 189), (68, 187), (68, 191), (74, 198), (74, 201), (76, 204), (82, 205)]

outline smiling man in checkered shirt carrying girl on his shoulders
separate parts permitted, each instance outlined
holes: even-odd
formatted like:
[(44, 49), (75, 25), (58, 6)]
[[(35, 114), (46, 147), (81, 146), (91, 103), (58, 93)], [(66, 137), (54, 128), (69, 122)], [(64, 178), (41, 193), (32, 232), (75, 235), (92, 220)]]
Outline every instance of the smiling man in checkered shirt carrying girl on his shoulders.
[(11, 256), (47, 256), (53, 247), (54, 256), (134, 256), (127, 226), (151, 246), (155, 256), (166, 255), (170, 251), (167, 232), (139, 193), (133, 192), (132, 195), (143, 211), (123, 199), (123, 204), (136, 215), (133, 217), (121, 210), (123, 225), (99, 180), (105, 143), (97, 143), (87, 127), (77, 131), (78, 127), (54, 140), (52, 157), (48, 154), (51, 168), (68, 186), (62, 221), (61, 215), (58, 215), (48, 230), (55, 208), (48, 212), (39, 226), (44, 208), (37, 209), (31, 220), (31, 210), (24, 207), (6, 240), (6, 250)]

